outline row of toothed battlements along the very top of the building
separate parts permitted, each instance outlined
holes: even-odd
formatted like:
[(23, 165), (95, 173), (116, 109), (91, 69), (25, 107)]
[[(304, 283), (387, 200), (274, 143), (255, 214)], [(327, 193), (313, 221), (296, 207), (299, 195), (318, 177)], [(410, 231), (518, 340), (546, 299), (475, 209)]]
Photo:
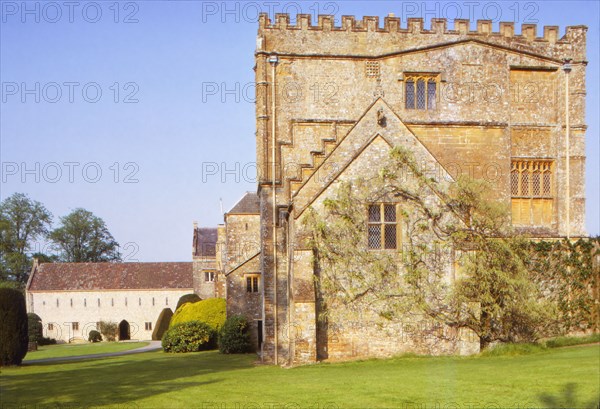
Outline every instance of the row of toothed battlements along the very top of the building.
[(558, 26), (544, 26), (543, 34), (538, 37), (538, 29), (535, 24), (522, 24), (521, 34), (515, 34), (513, 22), (501, 22), (500, 31), (492, 31), (492, 20), (477, 20), (477, 29), (470, 29), (470, 21), (466, 19), (455, 19), (454, 28), (448, 29), (445, 18), (434, 18), (431, 20), (431, 28), (424, 29), (422, 18), (409, 18), (407, 27), (401, 27), (401, 19), (388, 16), (384, 18), (383, 27), (379, 24), (379, 17), (365, 16), (357, 20), (354, 16), (342, 16), (341, 25), (335, 25), (335, 18), (331, 15), (319, 15), (316, 25), (312, 24), (310, 14), (298, 14), (296, 24), (290, 24), (289, 14), (276, 14), (272, 21), (267, 13), (262, 13), (259, 18), (259, 31), (262, 30), (304, 30), (322, 32), (377, 32), (377, 33), (406, 33), (406, 34), (453, 34), (467, 36), (492, 36), (504, 38), (518, 38), (529, 42), (572, 42), (584, 37), (581, 34), (587, 31), (586, 26), (568, 26), (563, 37), (559, 38)]

